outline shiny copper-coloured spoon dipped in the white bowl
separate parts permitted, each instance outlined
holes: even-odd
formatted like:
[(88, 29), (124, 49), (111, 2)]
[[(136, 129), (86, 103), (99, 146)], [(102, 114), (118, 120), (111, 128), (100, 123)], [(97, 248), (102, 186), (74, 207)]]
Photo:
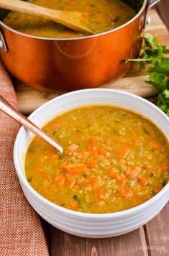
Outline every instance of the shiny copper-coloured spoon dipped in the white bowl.
[(0, 110), (3, 111), (5, 114), (9, 115), (16, 122), (19, 122), (19, 124), (23, 125), (26, 129), (28, 129), (30, 132), (40, 137), (49, 145), (56, 148), (59, 152), (63, 153), (63, 147), (61, 145), (59, 145), (55, 140), (53, 140), (52, 137), (49, 137), (48, 134), (46, 134), (44, 131), (42, 131), (42, 129), (40, 129), (35, 124), (33, 124), (29, 119), (23, 116), (23, 114), (21, 114), (19, 111), (14, 109), (14, 106), (11, 106), (11, 104), (9, 104), (6, 101), (6, 99), (4, 99), (1, 95), (0, 95)]

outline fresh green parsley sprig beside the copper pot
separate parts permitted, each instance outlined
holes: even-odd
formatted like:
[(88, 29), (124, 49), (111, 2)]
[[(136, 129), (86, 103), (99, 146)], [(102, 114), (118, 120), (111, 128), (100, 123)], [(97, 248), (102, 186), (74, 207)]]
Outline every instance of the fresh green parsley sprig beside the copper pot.
[(158, 94), (157, 106), (169, 116), (169, 53), (166, 46), (159, 44), (157, 38), (147, 34), (143, 37), (143, 49), (139, 58), (127, 59), (126, 62), (140, 62), (140, 68), (147, 68), (149, 79), (146, 83), (155, 86)]

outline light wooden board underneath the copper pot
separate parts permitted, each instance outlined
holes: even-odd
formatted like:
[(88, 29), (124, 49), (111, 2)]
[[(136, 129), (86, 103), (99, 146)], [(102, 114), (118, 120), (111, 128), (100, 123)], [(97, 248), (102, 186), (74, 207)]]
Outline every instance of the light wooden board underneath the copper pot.
[[(158, 16), (155, 10), (150, 10), (151, 22), (145, 29), (145, 33), (149, 32), (158, 38), (162, 45), (167, 45), (169, 47), (169, 34), (168, 29), (163, 24), (162, 20)], [(140, 70), (139, 65), (135, 64), (125, 78), (122, 78), (115, 82), (107, 83), (102, 88), (115, 88), (123, 91), (128, 91), (135, 93), (139, 96), (148, 97), (155, 96), (157, 91), (153, 86), (145, 83), (148, 78), (147, 70)], [(61, 94), (61, 92), (44, 92), (37, 91), (34, 88), (24, 85), (23, 83), (16, 83), (16, 96), (19, 104), (19, 110), (23, 114), (30, 114), (38, 106), (41, 106), (45, 102), (49, 101), (56, 96)]]

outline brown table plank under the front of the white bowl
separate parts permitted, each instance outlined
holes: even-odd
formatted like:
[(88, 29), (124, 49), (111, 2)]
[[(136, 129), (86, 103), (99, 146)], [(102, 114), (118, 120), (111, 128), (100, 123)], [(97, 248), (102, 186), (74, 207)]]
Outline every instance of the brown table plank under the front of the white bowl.
[[(143, 227), (120, 237), (85, 239), (50, 226), (52, 256), (148, 256)], [(138, 248), (143, 250), (138, 250)]]

